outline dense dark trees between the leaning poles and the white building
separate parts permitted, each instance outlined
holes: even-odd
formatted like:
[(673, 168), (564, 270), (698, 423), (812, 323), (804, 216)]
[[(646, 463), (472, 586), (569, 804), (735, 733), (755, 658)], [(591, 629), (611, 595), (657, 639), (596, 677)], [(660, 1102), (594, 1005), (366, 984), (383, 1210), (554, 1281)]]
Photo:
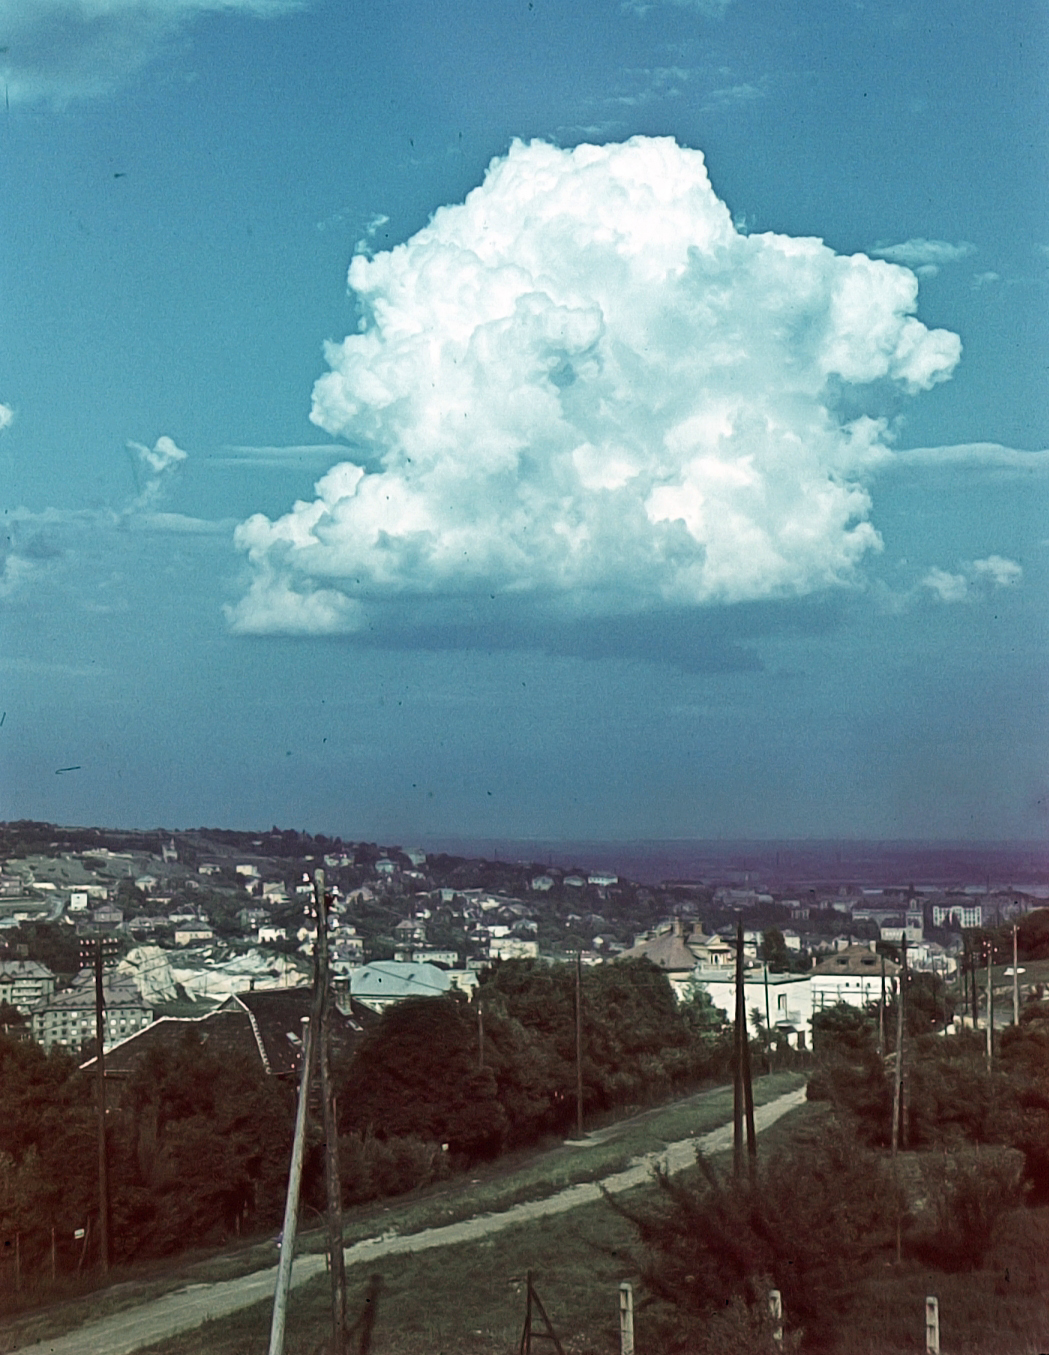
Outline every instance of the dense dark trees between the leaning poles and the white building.
[[(721, 1072), (706, 1011), (679, 1007), (648, 961), (584, 969), (587, 1114), (641, 1103)], [(344, 1133), (447, 1144), (491, 1156), (567, 1130), (576, 1114), (576, 970), (508, 961), (473, 996), (388, 1008), (359, 1046), (340, 1098)]]

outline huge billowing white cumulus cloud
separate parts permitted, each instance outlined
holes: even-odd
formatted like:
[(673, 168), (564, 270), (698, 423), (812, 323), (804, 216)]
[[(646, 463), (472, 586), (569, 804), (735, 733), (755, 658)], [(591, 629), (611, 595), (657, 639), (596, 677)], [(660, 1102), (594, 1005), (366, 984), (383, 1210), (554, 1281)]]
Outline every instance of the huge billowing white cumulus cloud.
[(237, 530), (244, 631), (362, 625), (390, 596), (580, 611), (812, 592), (878, 546), (884, 425), (843, 385), (946, 379), (907, 268), (744, 236), (668, 138), (516, 142), (350, 286), (313, 421), (359, 451)]

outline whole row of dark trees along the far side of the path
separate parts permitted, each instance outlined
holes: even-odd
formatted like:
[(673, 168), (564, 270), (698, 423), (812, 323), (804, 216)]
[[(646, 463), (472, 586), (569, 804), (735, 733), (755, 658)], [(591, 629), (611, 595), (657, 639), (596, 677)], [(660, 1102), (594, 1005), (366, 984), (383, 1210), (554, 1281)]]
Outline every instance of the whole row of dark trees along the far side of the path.
[[(729, 1075), (732, 1039), (697, 995), (678, 1004), (648, 961), (584, 969), (588, 1118)], [(388, 1008), (336, 1068), (347, 1205), (411, 1190), (504, 1149), (562, 1135), (576, 1114), (576, 972), (534, 961), (487, 970), (472, 1000)], [(0, 1245), (26, 1274), (92, 1263), (98, 1211), (94, 1079), (61, 1049), (0, 1031)], [(192, 1027), (107, 1089), (114, 1263), (279, 1226), (295, 1088), (218, 1057)], [(304, 1201), (324, 1201), (320, 1129)], [(79, 1238), (79, 1230), (87, 1237)]]

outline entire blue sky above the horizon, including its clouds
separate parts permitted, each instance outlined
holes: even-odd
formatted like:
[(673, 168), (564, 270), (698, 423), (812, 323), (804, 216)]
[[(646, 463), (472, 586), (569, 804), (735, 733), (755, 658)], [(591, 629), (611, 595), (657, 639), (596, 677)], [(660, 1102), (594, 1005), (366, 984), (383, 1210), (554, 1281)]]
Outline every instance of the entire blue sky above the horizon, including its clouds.
[(1042, 5), (0, 49), (0, 816), (1044, 837)]

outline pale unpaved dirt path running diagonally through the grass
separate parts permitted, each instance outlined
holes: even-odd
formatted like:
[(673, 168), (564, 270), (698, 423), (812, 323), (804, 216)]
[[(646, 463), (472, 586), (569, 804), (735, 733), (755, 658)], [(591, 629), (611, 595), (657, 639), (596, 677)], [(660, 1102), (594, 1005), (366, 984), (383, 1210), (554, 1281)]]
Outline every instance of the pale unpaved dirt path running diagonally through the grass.
[[(759, 1133), (781, 1115), (801, 1106), (804, 1100), (805, 1088), (800, 1087), (797, 1091), (759, 1106), (754, 1112)], [(514, 1228), (516, 1224), (546, 1218), (550, 1214), (564, 1214), (571, 1209), (579, 1209), (580, 1205), (592, 1205), (602, 1198), (602, 1187), (610, 1194), (618, 1195), (636, 1186), (644, 1186), (645, 1182), (651, 1180), (655, 1167), (663, 1167), (670, 1173), (684, 1171), (695, 1163), (697, 1149), (710, 1154), (725, 1152), (729, 1148), (732, 1148), (731, 1123), (722, 1125), (709, 1134), (668, 1144), (657, 1153), (646, 1153), (625, 1171), (606, 1176), (600, 1183), (584, 1182), (579, 1186), (568, 1186), (546, 1199), (514, 1205), (499, 1214), (478, 1214), (459, 1224), (426, 1228), (419, 1233), (407, 1233), (403, 1237), (386, 1233), (381, 1237), (365, 1238), (365, 1241), (354, 1243), (352, 1247), (346, 1248), (346, 1264), (359, 1266), (365, 1262), (374, 1262), (379, 1256), (398, 1256), (405, 1252), (430, 1251), (434, 1247), (473, 1243), (501, 1232), (504, 1228)], [(304, 1285), (314, 1275), (323, 1274), (324, 1268), (324, 1255), (298, 1256), (291, 1272), (291, 1286)], [(186, 1289), (164, 1294), (163, 1298), (152, 1299), (140, 1308), (114, 1313), (111, 1317), (91, 1322), (65, 1336), (16, 1348), (26, 1355), (131, 1355), (133, 1351), (142, 1350), (144, 1346), (178, 1336), (179, 1332), (192, 1331), (210, 1318), (225, 1317), (243, 1308), (251, 1308), (253, 1304), (271, 1301), (275, 1282), (276, 1267), (270, 1266), (252, 1275), (243, 1275), (240, 1279), (220, 1280), (213, 1285), (187, 1285)]]

